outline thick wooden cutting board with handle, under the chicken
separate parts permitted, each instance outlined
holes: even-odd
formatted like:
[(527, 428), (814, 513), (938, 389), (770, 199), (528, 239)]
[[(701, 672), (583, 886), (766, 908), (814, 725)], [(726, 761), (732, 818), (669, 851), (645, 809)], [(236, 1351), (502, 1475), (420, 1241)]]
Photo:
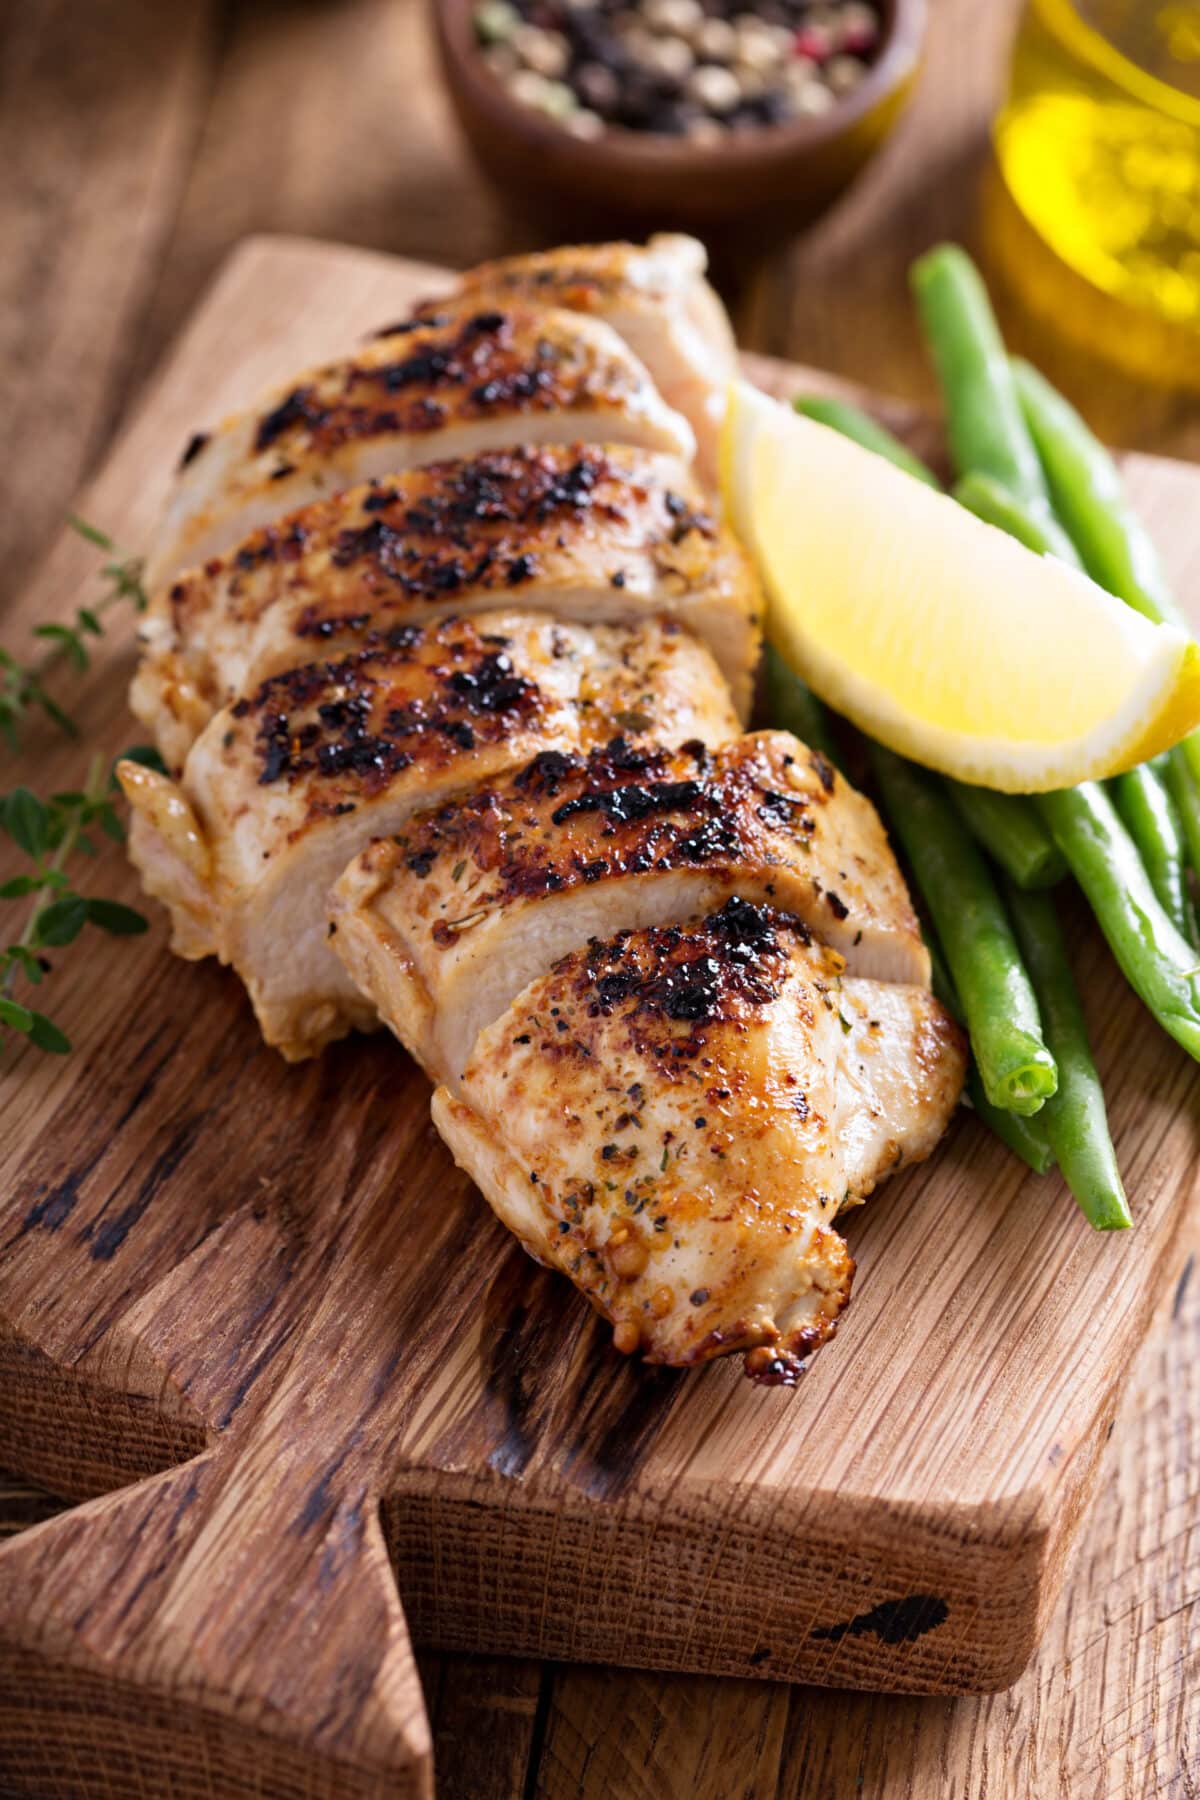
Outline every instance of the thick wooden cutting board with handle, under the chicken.
[[(144, 544), (196, 425), (443, 281), (243, 245), (81, 511)], [(1128, 479), (1195, 589), (1200, 473), (1132, 457)], [(4, 641), (94, 592), (94, 553), (65, 538)], [(130, 623), (81, 689), (112, 752), (137, 736), (131, 666)], [(23, 772), (74, 787), (83, 758), (34, 733)], [(115, 855), (103, 884), (137, 895)], [(1090, 1233), (1058, 1177), (963, 1116), (849, 1219), (842, 1330), (770, 1391), (732, 1363), (617, 1357), (452, 1166), (394, 1042), (288, 1067), (228, 972), (167, 956), (160, 918), (81, 938), (52, 988), (74, 1055), (2, 1073), (0, 1463), (83, 1501), (0, 1552), (4, 1791), (426, 1795), (410, 1636), (934, 1694), (1013, 1681), (1177, 1273), (1200, 1138), (1193, 1064), (1090, 931), (1078, 972), (1137, 1229)]]

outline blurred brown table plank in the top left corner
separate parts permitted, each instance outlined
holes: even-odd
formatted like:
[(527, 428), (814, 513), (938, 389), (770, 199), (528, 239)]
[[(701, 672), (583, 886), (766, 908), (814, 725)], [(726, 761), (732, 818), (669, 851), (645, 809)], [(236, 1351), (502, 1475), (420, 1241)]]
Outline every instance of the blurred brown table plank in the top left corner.
[(207, 90), (214, 0), (13, 5), (0, 31), (7, 596), (112, 434)]

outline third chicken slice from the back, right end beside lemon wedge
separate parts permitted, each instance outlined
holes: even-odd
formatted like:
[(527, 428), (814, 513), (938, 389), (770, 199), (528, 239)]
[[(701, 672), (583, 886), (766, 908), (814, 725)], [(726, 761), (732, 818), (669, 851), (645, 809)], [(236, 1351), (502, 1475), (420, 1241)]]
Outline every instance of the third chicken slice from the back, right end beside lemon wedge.
[(748, 709), (763, 612), (750, 558), (678, 461), (613, 445), (489, 452), (264, 526), (155, 594), (130, 700), (182, 767), (212, 713), (268, 675), (497, 605), (581, 623), (669, 612)]

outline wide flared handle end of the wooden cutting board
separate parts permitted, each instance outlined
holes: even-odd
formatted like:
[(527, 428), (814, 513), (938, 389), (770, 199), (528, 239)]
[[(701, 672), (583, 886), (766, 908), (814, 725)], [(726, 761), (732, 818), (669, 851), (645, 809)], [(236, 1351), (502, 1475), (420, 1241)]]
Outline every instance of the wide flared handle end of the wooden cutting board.
[[(430, 1800), (378, 1525), (356, 1543), (353, 1510), (315, 1516), (304, 1543), (304, 1490), (272, 1485), (277, 1449), (243, 1463), (248, 1485), (200, 1458), (9, 1546), (4, 1607), (22, 1607), (23, 1642), (5, 1629), (0, 1647), (5, 1791)], [(252, 1550), (241, 1568), (210, 1555), (223, 1508)]]

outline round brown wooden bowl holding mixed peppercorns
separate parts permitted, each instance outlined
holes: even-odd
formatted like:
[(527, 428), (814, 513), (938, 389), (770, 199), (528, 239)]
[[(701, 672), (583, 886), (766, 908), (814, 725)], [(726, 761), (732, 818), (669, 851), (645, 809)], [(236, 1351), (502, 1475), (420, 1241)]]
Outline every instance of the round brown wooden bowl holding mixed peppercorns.
[(927, 0), (883, 0), (883, 36), (864, 81), (819, 119), (729, 142), (610, 131), (585, 142), (511, 99), (482, 61), (473, 0), (432, 0), (443, 72), (484, 175), (516, 211), (563, 238), (676, 227), (752, 254), (813, 220), (878, 149), (916, 76)]

